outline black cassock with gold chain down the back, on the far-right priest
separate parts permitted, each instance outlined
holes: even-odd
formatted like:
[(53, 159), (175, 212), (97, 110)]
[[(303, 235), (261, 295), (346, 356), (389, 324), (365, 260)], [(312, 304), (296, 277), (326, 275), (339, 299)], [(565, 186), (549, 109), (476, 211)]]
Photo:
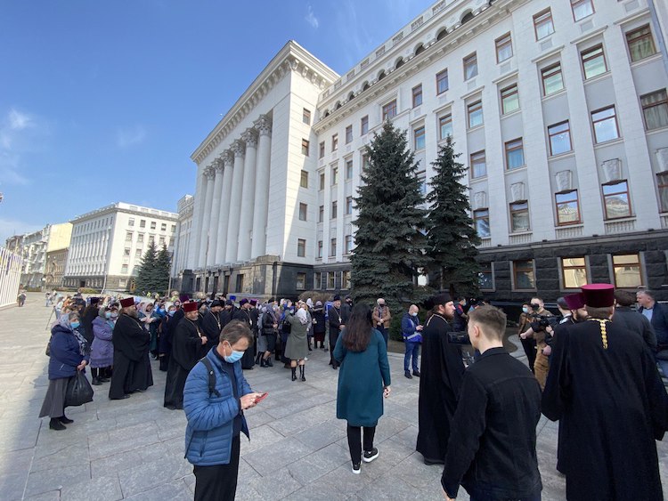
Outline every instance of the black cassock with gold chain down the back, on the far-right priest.
[(559, 465), (569, 500), (663, 499), (656, 440), (668, 429), (668, 395), (642, 338), (599, 320), (559, 331), (542, 413), (560, 419)]

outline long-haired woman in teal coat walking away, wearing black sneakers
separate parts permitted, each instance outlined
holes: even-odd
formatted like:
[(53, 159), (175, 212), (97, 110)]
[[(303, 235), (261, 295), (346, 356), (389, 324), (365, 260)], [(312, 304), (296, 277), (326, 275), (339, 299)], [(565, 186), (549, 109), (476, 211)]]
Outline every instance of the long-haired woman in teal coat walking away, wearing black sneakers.
[[(341, 364), (338, 372), (337, 417), (348, 422), (348, 448), (353, 473), (359, 474), (362, 460), (371, 463), (379, 456), (373, 436), (383, 415), (383, 397), (390, 394), (387, 346), (373, 328), (371, 309), (355, 304), (346, 327), (338, 336), (334, 358)], [(364, 455), (362, 455), (364, 428)]]

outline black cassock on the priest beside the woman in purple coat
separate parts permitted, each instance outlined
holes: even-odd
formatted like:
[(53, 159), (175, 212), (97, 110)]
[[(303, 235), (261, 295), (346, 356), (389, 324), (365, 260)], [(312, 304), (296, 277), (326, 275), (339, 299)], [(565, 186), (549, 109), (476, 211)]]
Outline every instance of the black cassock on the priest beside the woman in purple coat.
[(109, 388), (110, 399), (122, 399), (126, 393), (143, 392), (153, 385), (149, 342), (151, 335), (138, 319), (121, 313), (114, 327), (114, 372)]

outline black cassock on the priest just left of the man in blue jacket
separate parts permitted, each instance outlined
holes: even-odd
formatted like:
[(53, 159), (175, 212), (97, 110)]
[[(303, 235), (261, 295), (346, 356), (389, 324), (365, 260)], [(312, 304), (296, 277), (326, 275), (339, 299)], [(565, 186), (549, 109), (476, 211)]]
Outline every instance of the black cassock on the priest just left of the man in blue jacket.
[(183, 408), (183, 387), (195, 364), (207, 354), (197, 321), (183, 318), (172, 335), (172, 353), (167, 368), (165, 407)]

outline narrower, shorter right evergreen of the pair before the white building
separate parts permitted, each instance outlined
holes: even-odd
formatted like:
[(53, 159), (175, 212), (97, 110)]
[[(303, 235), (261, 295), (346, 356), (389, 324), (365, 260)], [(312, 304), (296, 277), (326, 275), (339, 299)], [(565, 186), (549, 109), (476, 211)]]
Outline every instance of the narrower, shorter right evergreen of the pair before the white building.
[(451, 295), (477, 295), (480, 266), (476, 246), (480, 238), (468, 215), (468, 188), (460, 183), (467, 168), (457, 161), (459, 157), (448, 136), (436, 161), (431, 163), (435, 174), (427, 196), (427, 254), (432, 258), (429, 279), (433, 287), (447, 288)]

